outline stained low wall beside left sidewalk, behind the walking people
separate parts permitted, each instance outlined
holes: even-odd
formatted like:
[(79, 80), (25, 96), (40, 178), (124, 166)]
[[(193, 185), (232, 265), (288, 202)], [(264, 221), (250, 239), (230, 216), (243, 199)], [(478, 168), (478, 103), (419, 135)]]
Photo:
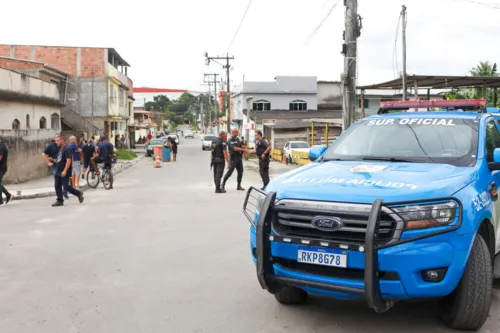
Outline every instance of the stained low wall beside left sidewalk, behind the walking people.
[(0, 136), (9, 149), (6, 184), (18, 184), (50, 175), (43, 162), (42, 153), (56, 131), (45, 130), (0, 130)]

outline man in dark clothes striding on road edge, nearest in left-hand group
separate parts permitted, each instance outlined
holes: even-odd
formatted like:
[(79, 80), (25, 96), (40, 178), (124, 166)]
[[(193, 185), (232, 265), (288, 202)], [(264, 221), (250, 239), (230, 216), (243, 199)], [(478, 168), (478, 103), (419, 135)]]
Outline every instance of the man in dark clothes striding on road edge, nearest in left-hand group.
[(56, 189), (57, 201), (52, 207), (64, 206), (63, 189), (83, 202), (83, 192), (75, 189), (69, 184), (71, 177), (71, 164), (73, 162), (73, 150), (66, 145), (66, 139), (63, 136), (58, 140), (59, 153), (56, 160), (56, 174), (54, 176), (54, 187)]

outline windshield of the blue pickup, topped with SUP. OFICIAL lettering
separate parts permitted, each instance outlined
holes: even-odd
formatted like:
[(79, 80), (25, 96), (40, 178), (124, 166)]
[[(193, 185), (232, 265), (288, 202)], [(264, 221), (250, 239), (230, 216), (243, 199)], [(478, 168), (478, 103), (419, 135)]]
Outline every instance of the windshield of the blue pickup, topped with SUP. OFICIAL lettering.
[(473, 166), (478, 124), (468, 119), (367, 119), (355, 125), (323, 160), (406, 161)]

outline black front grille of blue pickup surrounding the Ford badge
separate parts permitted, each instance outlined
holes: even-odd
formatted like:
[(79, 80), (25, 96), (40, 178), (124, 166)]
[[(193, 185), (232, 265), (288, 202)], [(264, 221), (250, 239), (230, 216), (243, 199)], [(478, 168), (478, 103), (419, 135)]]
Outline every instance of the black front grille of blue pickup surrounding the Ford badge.
[[(281, 210), (279, 207), (285, 207)], [(281, 200), (273, 214), (273, 229), (281, 236), (324, 239), (355, 244), (364, 244), (371, 205), (333, 203), (302, 200)], [(337, 231), (324, 231), (314, 227), (315, 217), (335, 217), (342, 221)], [(402, 219), (387, 207), (380, 213), (380, 228), (377, 244), (396, 241), (403, 229)]]

